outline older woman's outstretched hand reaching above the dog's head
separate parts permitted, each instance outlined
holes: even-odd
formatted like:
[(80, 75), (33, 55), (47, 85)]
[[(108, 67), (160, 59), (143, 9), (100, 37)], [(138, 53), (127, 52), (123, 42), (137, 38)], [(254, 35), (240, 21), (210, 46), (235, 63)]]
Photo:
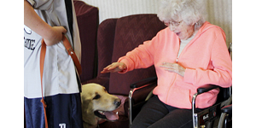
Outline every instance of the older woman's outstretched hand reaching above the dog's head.
[(113, 62), (108, 67), (105, 67), (101, 73), (115, 73), (126, 69), (126, 65), (123, 62)]

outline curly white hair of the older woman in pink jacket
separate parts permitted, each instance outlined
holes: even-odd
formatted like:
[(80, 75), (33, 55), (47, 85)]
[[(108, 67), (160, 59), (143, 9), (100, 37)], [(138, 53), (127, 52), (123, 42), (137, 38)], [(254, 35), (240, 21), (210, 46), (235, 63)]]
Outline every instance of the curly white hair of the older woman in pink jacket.
[(161, 21), (183, 20), (199, 29), (205, 20), (204, 0), (162, 0), (157, 14)]

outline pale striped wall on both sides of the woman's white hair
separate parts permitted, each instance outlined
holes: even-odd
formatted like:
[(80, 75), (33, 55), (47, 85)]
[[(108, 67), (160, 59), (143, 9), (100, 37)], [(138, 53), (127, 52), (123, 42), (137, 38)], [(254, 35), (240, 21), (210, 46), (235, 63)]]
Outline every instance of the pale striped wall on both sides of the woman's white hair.
[[(160, 0), (82, 0), (99, 9), (99, 21), (134, 14), (156, 14)], [(226, 42), (232, 42), (232, 0), (204, 0), (207, 20), (220, 26), (226, 33)]]

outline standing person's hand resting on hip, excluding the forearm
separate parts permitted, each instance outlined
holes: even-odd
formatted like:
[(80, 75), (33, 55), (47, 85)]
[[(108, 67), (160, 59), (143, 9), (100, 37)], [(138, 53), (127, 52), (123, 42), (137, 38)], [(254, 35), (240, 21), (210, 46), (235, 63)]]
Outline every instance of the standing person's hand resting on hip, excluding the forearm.
[(47, 36), (43, 37), (46, 45), (57, 44), (62, 40), (67, 30), (63, 26), (53, 26)]

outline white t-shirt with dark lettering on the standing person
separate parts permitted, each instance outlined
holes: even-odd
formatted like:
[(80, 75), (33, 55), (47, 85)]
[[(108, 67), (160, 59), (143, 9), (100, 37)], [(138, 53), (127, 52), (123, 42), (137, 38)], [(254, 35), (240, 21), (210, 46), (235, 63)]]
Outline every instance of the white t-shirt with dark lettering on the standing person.
[[(67, 29), (65, 36), (80, 61), (81, 44), (73, 0), (70, 0), (71, 4), (67, 6), (65, 0), (28, 0), (28, 2), (49, 26), (64, 26)], [(68, 7), (73, 9), (72, 16), (67, 16), (66, 8), (71, 9)], [(73, 19), (73, 28), (68, 26), (70, 18)], [(73, 29), (73, 36), (70, 28)], [(36, 32), (24, 27), (24, 96), (27, 98), (42, 96), (39, 64), (41, 40), (41, 36)], [(79, 93), (78, 84), (73, 60), (67, 54), (63, 43), (47, 46), (43, 75), (44, 96)]]

